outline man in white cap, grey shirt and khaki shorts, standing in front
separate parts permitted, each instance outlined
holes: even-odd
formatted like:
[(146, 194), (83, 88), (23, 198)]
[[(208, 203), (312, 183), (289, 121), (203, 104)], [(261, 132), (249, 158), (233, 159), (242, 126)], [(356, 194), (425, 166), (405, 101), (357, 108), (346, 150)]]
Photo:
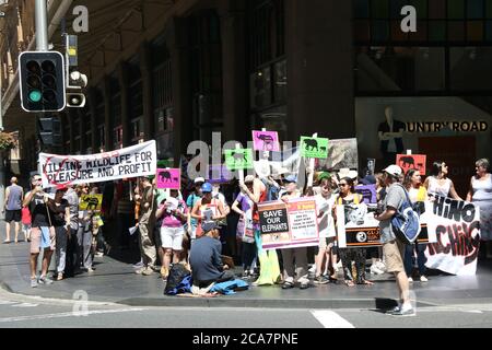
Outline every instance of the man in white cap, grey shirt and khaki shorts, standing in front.
[(391, 218), (407, 198), (406, 189), (399, 185), (402, 171), (398, 165), (389, 165), (383, 171), (387, 194), (383, 201), (383, 213), (374, 218), (379, 221), (380, 241), (387, 272), (395, 273), (400, 302), (389, 313), (395, 316), (412, 316), (414, 310), (410, 303), (409, 282), (403, 266), (405, 244), (397, 240), (391, 229)]

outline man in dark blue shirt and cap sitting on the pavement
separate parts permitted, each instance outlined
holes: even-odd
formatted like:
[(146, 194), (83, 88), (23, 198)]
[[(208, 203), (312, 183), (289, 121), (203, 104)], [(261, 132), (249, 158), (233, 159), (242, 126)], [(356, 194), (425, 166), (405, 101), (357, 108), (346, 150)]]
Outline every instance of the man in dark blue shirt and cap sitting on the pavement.
[(195, 288), (208, 288), (212, 283), (233, 281), (234, 273), (222, 265), (222, 244), (219, 225), (214, 221), (201, 224), (203, 236), (195, 241), (189, 253), (189, 264)]

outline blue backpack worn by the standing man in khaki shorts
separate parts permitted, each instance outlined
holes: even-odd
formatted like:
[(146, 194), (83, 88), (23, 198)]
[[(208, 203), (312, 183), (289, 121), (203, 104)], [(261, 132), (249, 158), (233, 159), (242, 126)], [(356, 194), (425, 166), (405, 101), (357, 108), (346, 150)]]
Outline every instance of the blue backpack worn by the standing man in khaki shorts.
[(418, 212), (413, 209), (407, 189), (398, 185), (405, 190), (406, 200), (391, 218), (393, 233), (405, 244), (413, 244), (420, 234), (420, 219)]

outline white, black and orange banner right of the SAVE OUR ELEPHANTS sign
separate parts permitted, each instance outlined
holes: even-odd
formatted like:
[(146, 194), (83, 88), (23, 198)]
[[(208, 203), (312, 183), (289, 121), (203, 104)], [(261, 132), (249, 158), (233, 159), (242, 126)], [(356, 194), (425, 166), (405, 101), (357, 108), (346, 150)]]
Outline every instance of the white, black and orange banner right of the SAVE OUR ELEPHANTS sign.
[(337, 235), (339, 248), (380, 246), (379, 222), (367, 206), (337, 206)]

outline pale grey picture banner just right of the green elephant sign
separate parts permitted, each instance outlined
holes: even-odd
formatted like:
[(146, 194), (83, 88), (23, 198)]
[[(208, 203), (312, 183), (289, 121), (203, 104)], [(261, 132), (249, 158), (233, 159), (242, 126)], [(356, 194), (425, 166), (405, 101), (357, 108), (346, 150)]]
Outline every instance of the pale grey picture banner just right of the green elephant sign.
[(316, 167), (330, 171), (359, 168), (358, 139), (330, 139), (328, 156), (317, 160)]

